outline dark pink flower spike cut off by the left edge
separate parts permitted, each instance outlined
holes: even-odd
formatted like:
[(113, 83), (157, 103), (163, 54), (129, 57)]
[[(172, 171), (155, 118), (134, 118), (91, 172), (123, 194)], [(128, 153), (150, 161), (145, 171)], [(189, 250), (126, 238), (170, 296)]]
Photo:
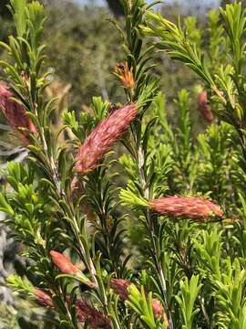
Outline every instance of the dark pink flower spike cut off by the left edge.
[(23, 107), (12, 100), (13, 97), (14, 94), (8, 89), (7, 85), (0, 83), (0, 109), (10, 127), (20, 133), (22, 141), (26, 145), (29, 143), (28, 134), (20, 131), (20, 128), (26, 128), (29, 132), (36, 133), (36, 127)]

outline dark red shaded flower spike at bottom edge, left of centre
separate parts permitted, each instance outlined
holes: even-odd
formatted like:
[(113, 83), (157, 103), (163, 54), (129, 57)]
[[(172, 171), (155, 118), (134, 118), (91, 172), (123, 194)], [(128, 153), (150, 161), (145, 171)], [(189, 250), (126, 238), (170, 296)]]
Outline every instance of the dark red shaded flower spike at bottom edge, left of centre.
[(87, 305), (87, 302), (78, 300), (76, 305), (77, 318), (81, 323), (87, 321), (88, 325), (92, 329), (111, 329), (111, 325), (108, 321), (108, 317), (95, 309)]

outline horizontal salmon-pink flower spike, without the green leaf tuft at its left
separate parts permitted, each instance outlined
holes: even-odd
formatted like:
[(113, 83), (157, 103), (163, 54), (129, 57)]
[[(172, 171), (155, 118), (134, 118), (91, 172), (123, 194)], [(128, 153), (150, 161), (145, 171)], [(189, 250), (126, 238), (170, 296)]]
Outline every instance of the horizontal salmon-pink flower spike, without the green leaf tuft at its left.
[(161, 197), (150, 201), (149, 207), (160, 215), (175, 218), (206, 220), (212, 216), (223, 216), (219, 206), (204, 198), (193, 196)]

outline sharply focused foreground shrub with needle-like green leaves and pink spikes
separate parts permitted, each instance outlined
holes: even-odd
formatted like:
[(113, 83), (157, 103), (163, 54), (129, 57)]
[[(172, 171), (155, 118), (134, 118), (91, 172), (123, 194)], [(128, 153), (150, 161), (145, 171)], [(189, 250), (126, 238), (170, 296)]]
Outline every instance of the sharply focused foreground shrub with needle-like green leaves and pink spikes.
[[(191, 329), (203, 324), (212, 327), (214, 322), (220, 328), (229, 322), (231, 328), (246, 327), (245, 261), (239, 254), (231, 259), (221, 257), (220, 262), (221, 207), (205, 196), (166, 195), (170, 163), (167, 154), (159, 165), (158, 150), (163, 150), (163, 145), (158, 147), (155, 141), (152, 127), (157, 119), (149, 120), (148, 111), (159, 100), (159, 83), (149, 64), (154, 47), (144, 46), (141, 37), (159, 37), (154, 46), (167, 49), (200, 75), (219, 103), (216, 114), (239, 134), (241, 154), (237, 155), (243, 172), (241, 40), (245, 13), (237, 3), (221, 11), (233, 56), (231, 65), (213, 77), (189, 36), (180, 26), (154, 14), (152, 5), (123, 0), (126, 28), (115, 22), (126, 59), (117, 64), (114, 75), (125, 94), (125, 105), (110, 111), (108, 102), (94, 98), (93, 116), (65, 112), (59, 133), (70, 130), (73, 138), (59, 145), (52, 132), (56, 100), (47, 100), (45, 93), (49, 80), (42, 41), (44, 7), (37, 1), (10, 1), (15, 37), (1, 42), (10, 59), (0, 61), (5, 73), (0, 107), (29, 154), (25, 164), (8, 164), (5, 181), (11, 188), (1, 194), (0, 202), (9, 217), (6, 224), (25, 245), (30, 280), (12, 275), (7, 281), (23, 296), (31, 296), (54, 312), (56, 316), (47, 314), (44, 321), (55, 327)], [(180, 100), (185, 97), (184, 92), (180, 94)], [(200, 106), (212, 122), (204, 98), (207, 94), (200, 95)], [(164, 130), (168, 130), (165, 124)], [(171, 139), (172, 133), (169, 136)], [(115, 160), (107, 156), (118, 141), (127, 149), (120, 163), (126, 164), (124, 178), (128, 179), (119, 195)], [(238, 204), (243, 206), (241, 218), (246, 218), (242, 196)], [(140, 271), (129, 262), (124, 216), (128, 211), (132, 221), (138, 218), (137, 227), (145, 241)], [(88, 222), (92, 234), (88, 234)], [(241, 224), (240, 229), (235, 234), (244, 232)], [(245, 245), (243, 234), (235, 238), (241, 246)], [(179, 248), (182, 237), (192, 240), (190, 255), (188, 248)], [(212, 302), (214, 311), (210, 313)]]

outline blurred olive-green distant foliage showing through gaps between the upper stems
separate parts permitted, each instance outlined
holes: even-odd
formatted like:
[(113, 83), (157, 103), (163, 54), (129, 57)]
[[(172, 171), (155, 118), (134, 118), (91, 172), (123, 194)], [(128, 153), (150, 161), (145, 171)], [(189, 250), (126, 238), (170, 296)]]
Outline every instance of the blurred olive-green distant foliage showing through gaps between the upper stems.
[[(12, 28), (5, 6), (7, 2), (8, 0), (1, 0), (0, 3), (1, 39), (5, 39)], [(53, 79), (59, 82), (59, 85), (71, 84), (69, 110), (80, 111), (90, 103), (92, 96), (97, 95), (102, 96), (104, 100), (121, 101), (122, 95), (117, 91), (117, 83), (111, 75), (124, 56), (120, 48), (118, 30), (110, 22), (110, 19), (116, 16), (118, 24), (123, 24), (119, 1), (108, 0), (105, 5), (101, 1), (93, 0), (84, 0), (81, 4), (69, 0), (42, 2), (46, 5), (48, 17), (47, 65), (54, 72)], [(191, 5), (192, 3), (194, 4)], [(224, 0), (223, 5), (225, 3)], [(204, 0), (200, 2), (200, 6), (196, 4), (197, 2), (188, 0), (181, 5), (176, 1), (169, 1), (161, 10), (173, 21), (176, 21), (180, 14), (200, 16), (199, 21), (202, 24), (206, 21), (209, 2)], [(154, 72), (161, 80), (161, 87), (168, 102), (172, 103), (177, 96), (177, 90), (184, 87), (194, 89), (196, 78), (184, 66), (164, 58), (162, 54), (158, 56), (160, 65)]]

